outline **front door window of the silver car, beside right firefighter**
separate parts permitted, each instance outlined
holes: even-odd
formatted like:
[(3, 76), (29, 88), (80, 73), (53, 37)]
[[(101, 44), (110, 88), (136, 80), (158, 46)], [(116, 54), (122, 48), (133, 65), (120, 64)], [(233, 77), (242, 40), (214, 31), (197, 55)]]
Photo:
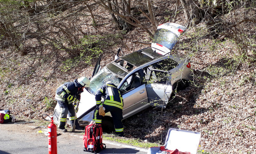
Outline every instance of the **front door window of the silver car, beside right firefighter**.
[(120, 90), (122, 93), (126, 93), (129, 90), (139, 87), (141, 84), (140, 73), (134, 73), (125, 80)]

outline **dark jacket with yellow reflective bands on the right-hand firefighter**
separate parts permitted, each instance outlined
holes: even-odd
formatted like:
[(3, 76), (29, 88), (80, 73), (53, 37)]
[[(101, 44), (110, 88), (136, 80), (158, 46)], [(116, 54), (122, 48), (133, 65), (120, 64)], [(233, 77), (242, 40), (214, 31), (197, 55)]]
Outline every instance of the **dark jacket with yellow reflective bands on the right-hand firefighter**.
[(96, 91), (96, 106), (101, 105), (101, 97), (105, 97), (104, 105), (123, 109), (123, 98), (120, 90), (114, 84), (104, 84)]

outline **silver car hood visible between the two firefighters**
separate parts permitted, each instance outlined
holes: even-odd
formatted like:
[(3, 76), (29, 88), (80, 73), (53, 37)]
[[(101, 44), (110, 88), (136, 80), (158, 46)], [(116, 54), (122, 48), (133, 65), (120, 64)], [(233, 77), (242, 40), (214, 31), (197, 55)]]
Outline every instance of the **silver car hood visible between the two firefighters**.
[[(93, 110), (96, 108), (96, 101), (95, 101), (95, 96), (90, 93), (87, 90), (84, 90), (83, 93), (81, 93), (81, 100), (79, 103), (79, 110), (76, 113), (76, 116), (78, 119), (83, 120), (83, 121), (91, 121), (93, 120), (92, 115)], [(90, 113), (90, 114), (88, 114)], [(87, 119), (84, 119), (85, 115), (87, 115)], [(81, 119), (83, 118), (83, 119)]]

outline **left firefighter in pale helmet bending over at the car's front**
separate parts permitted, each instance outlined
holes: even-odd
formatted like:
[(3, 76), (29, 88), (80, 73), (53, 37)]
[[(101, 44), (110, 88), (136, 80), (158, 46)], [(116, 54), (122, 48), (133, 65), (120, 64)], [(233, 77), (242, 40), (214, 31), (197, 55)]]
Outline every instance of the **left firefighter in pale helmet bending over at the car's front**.
[[(76, 112), (78, 110), (78, 104), (80, 101), (80, 94), (84, 91), (84, 87), (89, 87), (90, 80), (87, 77), (81, 77), (75, 79), (73, 82), (66, 82), (57, 88), (55, 99), (61, 108), (60, 115), (58, 117), (58, 130), (67, 132), (65, 129), (67, 114), (70, 116), (70, 125), (73, 126), (75, 121), (76, 129), (81, 130), (77, 119), (75, 119)], [(73, 104), (74, 103), (74, 104)]]

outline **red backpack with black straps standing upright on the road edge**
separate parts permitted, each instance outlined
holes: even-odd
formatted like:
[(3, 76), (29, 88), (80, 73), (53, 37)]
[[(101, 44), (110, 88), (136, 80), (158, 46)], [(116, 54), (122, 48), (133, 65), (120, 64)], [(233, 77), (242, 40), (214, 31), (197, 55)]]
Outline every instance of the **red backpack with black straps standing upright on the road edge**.
[(102, 143), (102, 126), (98, 124), (87, 125), (83, 135), (84, 151), (97, 153), (106, 148)]

